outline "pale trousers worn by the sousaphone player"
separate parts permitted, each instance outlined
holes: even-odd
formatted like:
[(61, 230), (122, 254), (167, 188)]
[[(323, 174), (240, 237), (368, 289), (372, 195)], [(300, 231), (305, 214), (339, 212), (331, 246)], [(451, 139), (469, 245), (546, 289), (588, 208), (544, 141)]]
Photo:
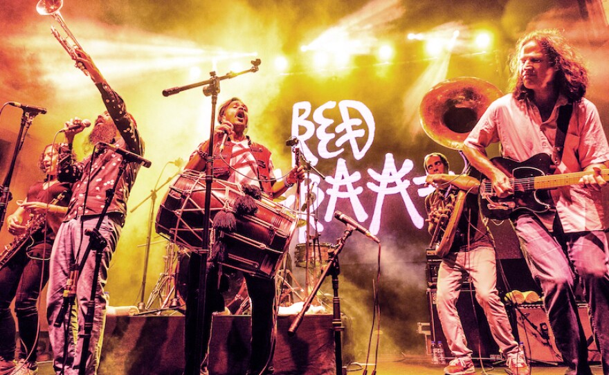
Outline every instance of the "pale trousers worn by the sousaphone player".
[(459, 313), (457, 299), (463, 276), (469, 274), (475, 298), (487, 317), (491, 334), (506, 356), (516, 355), (518, 343), (513, 338), (505, 306), (497, 291), (495, 250), (479, 246), (471, 251), (450, 253), (442, 260), (437, 280), (437, 311), (448, 348), (456, 358), (471, 358)]

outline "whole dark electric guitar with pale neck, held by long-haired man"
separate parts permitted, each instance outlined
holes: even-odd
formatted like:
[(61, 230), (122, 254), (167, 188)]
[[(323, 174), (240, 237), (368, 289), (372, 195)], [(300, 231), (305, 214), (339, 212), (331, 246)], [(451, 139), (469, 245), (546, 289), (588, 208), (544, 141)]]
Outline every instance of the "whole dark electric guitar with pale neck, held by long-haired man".
[[(575, 185), (582, 176), (594, 172), (550, 174), (552, 158), (548, 154), (537, 154), (526, 161), (508, 158), (492, 158), (491, 162), (510, 178), (513, 194), (499, 198), (488, 179), (480, 183), (480, 211), (489, 219), (505, 220), (516, 210), (528, 210), (543, 214), (554, 208), (550, 189)], [(609, 181), (609, 169), (601, 170), (601, 176)]]

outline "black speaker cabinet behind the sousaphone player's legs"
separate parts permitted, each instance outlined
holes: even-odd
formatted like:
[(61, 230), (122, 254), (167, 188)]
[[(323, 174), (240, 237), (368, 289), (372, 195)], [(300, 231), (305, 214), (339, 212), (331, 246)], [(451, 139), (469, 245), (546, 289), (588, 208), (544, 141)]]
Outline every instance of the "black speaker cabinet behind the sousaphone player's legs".
[[(442, 324), (437, 315), (437, 294), (435, 289), (427, 290), (427, 298), (430, 313), (430, 340), (442, 341), (444, 353), (446, 356), (452, 356), (446, 343), (446, 337), (442, 331)], [(457, 312), (459, 313), (463, 330), (465, 331), (467, 345), (473, 351), (473, 358), (491, 360), (501, 359), (499, 347), (491, 335), (487, 317), (484, 315), (482, 307), (475, 301), (475, 291), (470, 291), (469, 289), (463, 289), (461, 291), (459, 299), (457, 300)]]

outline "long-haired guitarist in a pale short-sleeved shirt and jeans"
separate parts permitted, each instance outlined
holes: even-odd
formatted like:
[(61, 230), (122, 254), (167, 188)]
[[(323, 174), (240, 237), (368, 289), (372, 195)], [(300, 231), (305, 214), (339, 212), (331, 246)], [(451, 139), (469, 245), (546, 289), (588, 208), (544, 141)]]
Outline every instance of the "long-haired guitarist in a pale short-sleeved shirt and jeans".
[[(556, 30), (522, 37), (511, 68), (512, 92), (489, 106), (466, 138), (464, 153), (490, 179), (494, 192), (508, 199), (515, 187), (510, 171), (487, 158), (485, 148), (491, 143), (500, 142), (502, 156), (523, 164), (536, 154), (546, 154), (554, 163), (535, 167), (553, 164), (557, 175), (589, 172), (576, 178), (575, 185), (550, 190), (549, 203), (555, 209), (534, 214), (525, 204), (513, 210), (510, 219), (531, 274), (543, 290), (567, 374), (591, 374), (574, 296), (574, 273), (580, 277), (590, 307), (603, 372), (609, 374), (609, 250), (599, 191), (606, 185), (600, 170), (608, 165), (609, 145), (597, 108), (583, 97), (588, 71)], [(561, 130), (561, 123), (567, 129)]]

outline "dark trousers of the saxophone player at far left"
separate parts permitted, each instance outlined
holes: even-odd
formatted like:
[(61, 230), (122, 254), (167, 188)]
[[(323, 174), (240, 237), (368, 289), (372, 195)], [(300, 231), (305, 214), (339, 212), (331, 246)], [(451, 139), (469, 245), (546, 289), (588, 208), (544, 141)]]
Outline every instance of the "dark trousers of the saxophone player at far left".
[(15, 320), (10, 313), (10, 302), (14, 298), (19, 338), (21, 338), (19, 359), (36, 361), (35, 344), (38, 334), (36, 303), (47, 280), (48, 261), (30, 259), (23, 250), (19, 250), (19, 253), (0, 270), (0, 356), (3, 358), (10, 360), (15, 357)]

